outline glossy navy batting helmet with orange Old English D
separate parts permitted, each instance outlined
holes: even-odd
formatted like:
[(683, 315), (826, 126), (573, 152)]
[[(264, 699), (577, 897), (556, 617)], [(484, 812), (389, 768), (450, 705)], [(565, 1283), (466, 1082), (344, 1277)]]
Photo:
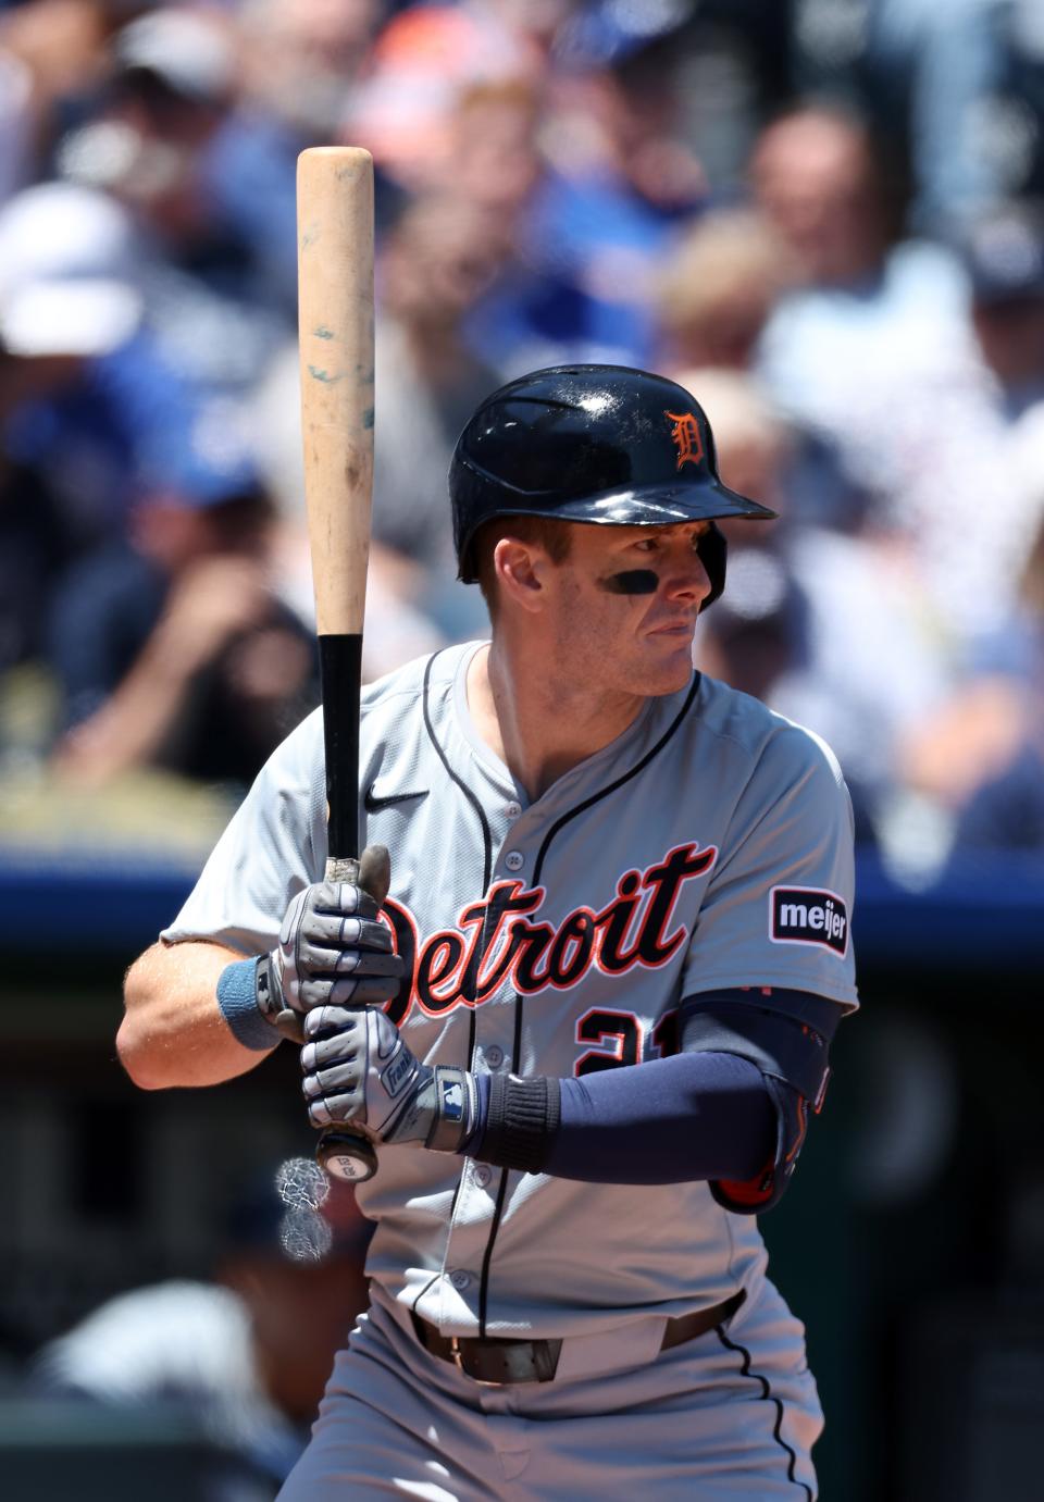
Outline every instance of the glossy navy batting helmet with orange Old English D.
[[(623, 365), (554, 365), (509, 382), (467, 424), (449, 467), (454, 542), (475, 583), (475, 536), (493, 517), (668, 526), (775, 517), (718, 479), (706, 413), (674, 382)], [(726, 584), (714, 521), (699, 548), (711, 605)]]

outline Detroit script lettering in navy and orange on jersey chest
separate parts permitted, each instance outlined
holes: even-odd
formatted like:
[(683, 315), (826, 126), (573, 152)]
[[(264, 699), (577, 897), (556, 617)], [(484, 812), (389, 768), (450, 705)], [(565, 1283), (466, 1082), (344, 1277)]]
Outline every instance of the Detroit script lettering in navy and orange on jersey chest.
[(625, 871), (604, 907), (574, 907), (557, 925), (538, 918), (545, 888), (523, 882), (494, 882), (482, 901), (461, 910), (455, 928), (424, 939), (409, 907), (389, 897), (383, 916), (407, 979), (388, 1014), (401, 1023), (413, 1002), (440, 1015), (481, 1006), (505, 982), (532, 996), (569, 990), (592, 969), (626, 975), (634, 966), (667, 964), (688, 937), (683, 924), (671, 928), (682, 886), (706, 876), (717, 858), (715, 846), (674, 846), (644, 871)]

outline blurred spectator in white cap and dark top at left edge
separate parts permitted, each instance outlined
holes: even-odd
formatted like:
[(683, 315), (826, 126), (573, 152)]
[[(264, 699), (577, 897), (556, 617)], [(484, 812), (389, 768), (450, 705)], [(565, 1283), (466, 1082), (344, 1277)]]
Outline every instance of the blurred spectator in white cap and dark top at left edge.
[(47, 183), (0, 209), (0, 670), (42, 649), (63, 565), (122, 521), (134, 437), (105, 371), (141, 311), (116, 204)]

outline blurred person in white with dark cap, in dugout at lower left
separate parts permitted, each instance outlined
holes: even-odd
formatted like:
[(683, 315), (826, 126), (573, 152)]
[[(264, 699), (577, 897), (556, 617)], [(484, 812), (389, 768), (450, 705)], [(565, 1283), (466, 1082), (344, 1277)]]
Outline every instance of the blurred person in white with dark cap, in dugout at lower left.
[(240, 1194), (212, 1281), (117, 1295), (44, 1347), (33, 1385), (189, 1415), (245, 1464), (236, 1476), (215, 1461), (209, 1502), (264, 1502), (303, 1449), (333, 1356), (368, 1304), (368, 1239), (344, 1185), (321, 1212), (287, 1206), (272, 1184)]

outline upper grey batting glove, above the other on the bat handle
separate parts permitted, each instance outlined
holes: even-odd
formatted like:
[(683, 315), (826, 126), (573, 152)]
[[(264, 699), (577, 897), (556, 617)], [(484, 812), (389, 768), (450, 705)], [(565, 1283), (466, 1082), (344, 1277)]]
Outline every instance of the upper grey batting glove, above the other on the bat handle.
[(300, 1042), (300, 1015), (315, 1006), (391, 1000), (404, 966), (377, 913), (370, 892), (347, 882), (317, 882), (297, 892), (279, 943), (257, 963), (255, 1000), (267, 1021)]

